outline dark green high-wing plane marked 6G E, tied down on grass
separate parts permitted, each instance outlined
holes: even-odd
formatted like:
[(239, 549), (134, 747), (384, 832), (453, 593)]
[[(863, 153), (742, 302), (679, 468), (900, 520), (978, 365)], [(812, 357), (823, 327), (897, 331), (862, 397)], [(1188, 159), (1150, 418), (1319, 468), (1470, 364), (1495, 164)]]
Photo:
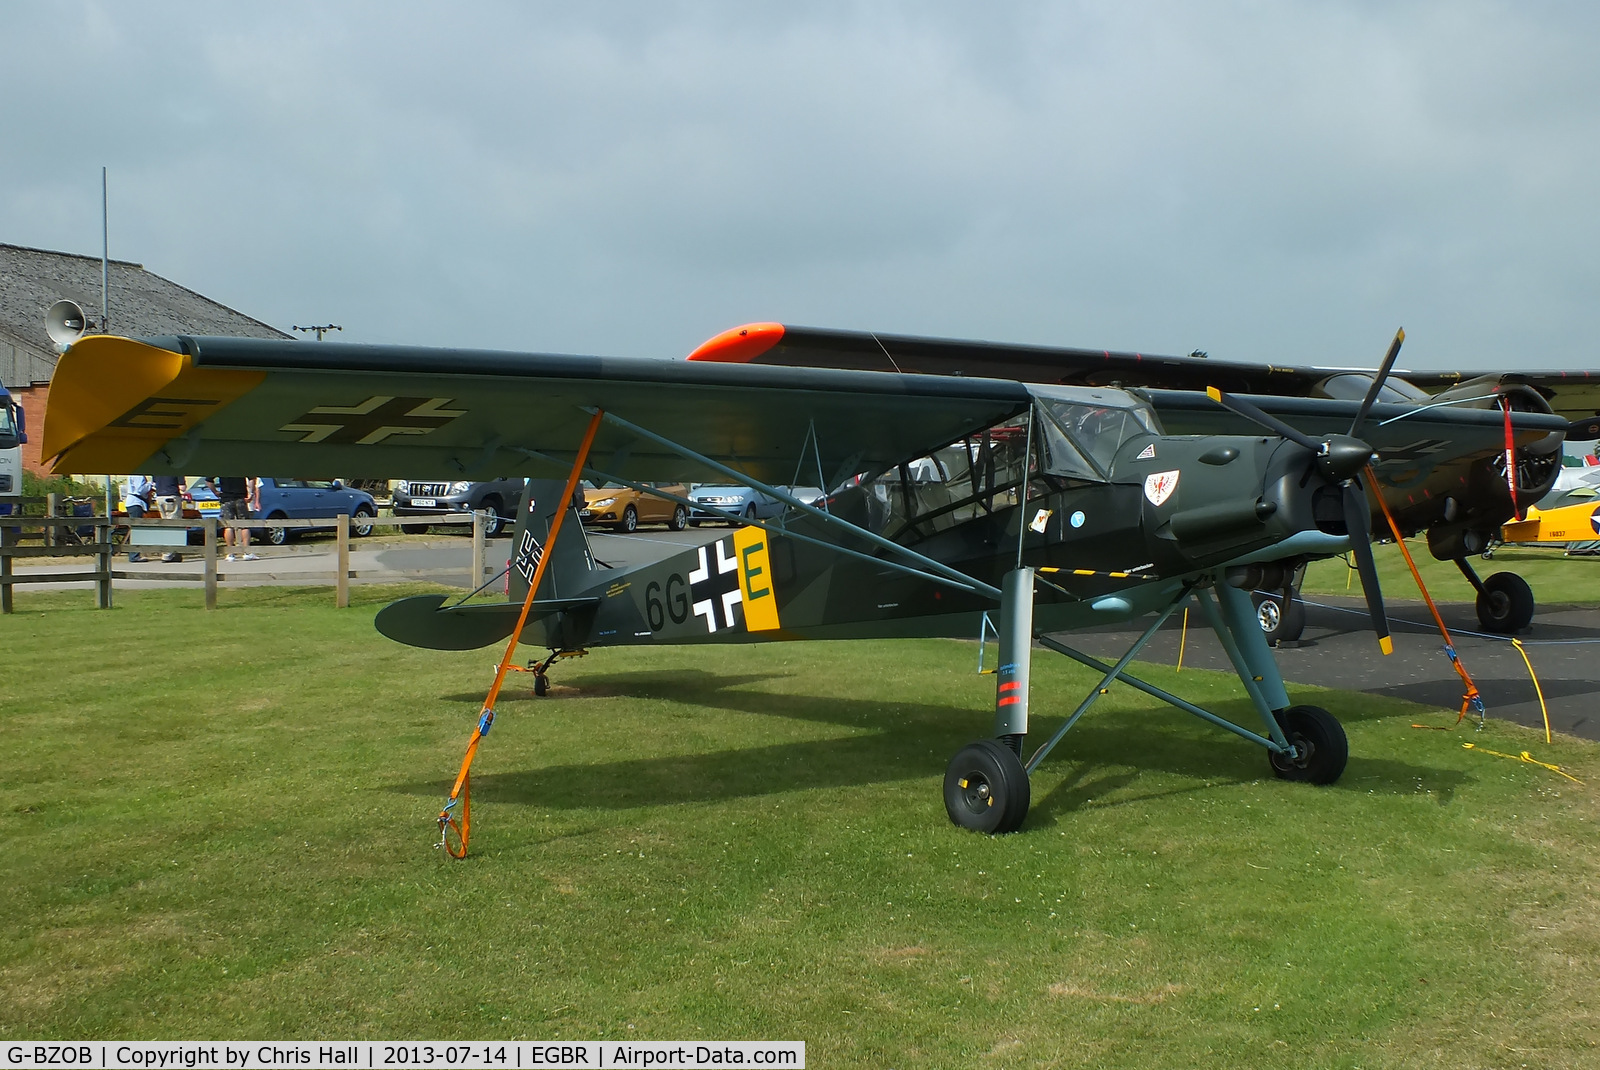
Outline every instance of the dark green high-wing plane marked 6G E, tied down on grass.
[[(1354, 552), (1387, 651), (1368, 545), (1373, 451), (1426, 438), (1419, 470), (1467, 473), (1504, 445), (1498, 411), (1378, 400), (1398, 344), (1365, 397), (1294, 401), (1310, 433), (1213, 390), (1190, 403), (1227, 406), (1250, 433), (1171, 435), (1150, 392), (1104, 385), (96, 336), (58, 363), (43, 453), (58, 472), (530, 477), (509, 601), (445, 606), (427, 595), (378, 616), (386, 635), (427, 648), (510, 637), (469, 761), (518, 641), (547, 651), (531, 665), (539, 691), (557, 659), (597, 646), (979, 638), (992, 625), (992, 731), (950, 760), (944, 801), (958, 825), (1008, 832), (1027, 814), (1029, 774), (1114, 680), (1262, 747), (1278, 777), (1339, 777), (1344, 729), (1328, 710), (1290, 702), (1248, 592), (1282, 585), (1307, 557)], [(1510, 425), (1523, 445), (1566, 421), (1517, 411)], [(789, 512), (606, 569), (571, 509), (581, 477), (736, 480)], [(806, 505), (778, 485), (832, 489)], [(1190, 603), (1227, 651), (1254, 728), (1130, 673)], [(1058, 637), (1144, 616), (1149, 627), (1115, 664)], [(1024, 758), (1035, 640), (1093, 667), (1098, 683)], [(442, 827), (448, 819), (446, 804)]]

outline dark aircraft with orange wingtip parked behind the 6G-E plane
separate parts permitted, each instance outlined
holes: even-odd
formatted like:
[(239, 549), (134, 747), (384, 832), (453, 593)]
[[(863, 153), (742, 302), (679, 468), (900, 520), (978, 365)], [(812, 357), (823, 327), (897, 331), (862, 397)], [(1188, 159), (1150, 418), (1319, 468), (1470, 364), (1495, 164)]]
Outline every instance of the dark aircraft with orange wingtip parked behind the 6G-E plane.
[[(835, 331), (781, 323), (747, 323), (725, 331), (693, 353), (694, 361), (760, 363), (864, 371), (997, 376), (1022, 382), (1139, 387), (1150, 398), (1168, 433), (1243, 433), (1248, 422), (1197, 393), (1219, 387), (1256, 397), (1256, 403), (1310, 433), (1334, 430), (1320, 421), (1309, 398), (1360, 398), (1373, 385), (1362, 368), (1253, 365), (1208, 358), (1160, 357), (1090, 349), (1011, 345), (936, 337), (907, 337), (869, 331)], [(1478, 622), (1485, 630), (1512, 633), (1533, 619), (1534, 598), (1515, 573), (1480, 579), (1470, 558), (1488, 550), (1501, 525), (1544, 497), (1562, 467), (1562, 441), (1600, 437), (1600, 373), (1494, 371), (1421, 373), (1395, 371), (1382, 384), (1381, 400), (1416, 406), (1450, 406), (1501, 411), (1509, 432), (1512, 413), (1555, 413), (1565, 425), (1552, 425), (1541, 440), (1522, 440), (1498, 454), (1477, 456), (1470, 464), (1446, 464), (1446, 440), (1432, 430), (1397, 435), (1386, 441), (1374, 465), (1384, 502), (1403, 534), (1427, 533), (1429, 550), (1456, 568), (1477, 593)], [(1405, 417), (1410, 421), (1410, 417)], [(1510, 462), (1507, 464), (1507, 459)], [(1387, 529), (1378, 501), (1373, 521)], [(1277, 598), (1258, 597), (1261, 625), (1275, 638), (1298, 638), (1282, 621), (1304, 621), (1299, 611), (1298, 576), (1291, 590)]]

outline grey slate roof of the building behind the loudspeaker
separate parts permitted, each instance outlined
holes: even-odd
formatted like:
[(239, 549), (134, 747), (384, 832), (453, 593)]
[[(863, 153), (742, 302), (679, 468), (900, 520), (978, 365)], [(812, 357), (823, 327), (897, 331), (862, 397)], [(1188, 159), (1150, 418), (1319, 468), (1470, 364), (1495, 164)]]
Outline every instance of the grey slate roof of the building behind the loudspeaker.
[[(110, 261), (107, 275), (110, 329), (117, 334), (290, 337), (275, 326), (147, 272), (142, 264)], [(0, 382), (27, 385), (50, 379), (56, 368), (56, 347), (45, 331), (45, 310), (62, 297), (77, 301), (90, 321), (99, 325), (98, 256), (0, 243)]]

